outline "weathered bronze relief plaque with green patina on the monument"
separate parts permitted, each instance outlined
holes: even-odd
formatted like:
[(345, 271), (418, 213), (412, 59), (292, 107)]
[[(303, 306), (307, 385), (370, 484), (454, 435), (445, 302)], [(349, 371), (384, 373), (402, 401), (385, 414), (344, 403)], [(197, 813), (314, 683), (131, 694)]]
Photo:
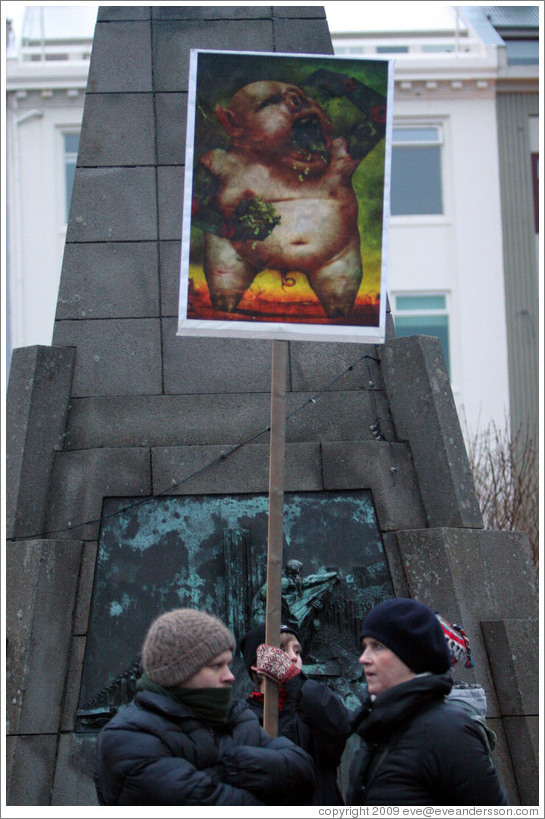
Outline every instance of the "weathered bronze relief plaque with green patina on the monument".
[[(304, 670), (355, 705), (357, 635), (394, 596), (371, 493), (286, 493), (282, 618), (300, 636)], [(264, 619), (267, 495), (109, 498), (104, 502), (78, 730), (98, 730), (133, 696), (151, 621), (206, 610), (238, 638)], [(251, 682), (235, 656), (235, 696)]]

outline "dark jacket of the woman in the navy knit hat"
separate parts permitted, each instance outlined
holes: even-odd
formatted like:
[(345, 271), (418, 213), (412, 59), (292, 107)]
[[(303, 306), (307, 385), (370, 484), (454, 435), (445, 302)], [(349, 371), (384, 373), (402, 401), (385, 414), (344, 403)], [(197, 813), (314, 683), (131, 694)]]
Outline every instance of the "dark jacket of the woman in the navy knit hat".
[(507, 805), (481, 729), (445, 701), (448, 675), (427, 674), (364, 703), (349, 805)]

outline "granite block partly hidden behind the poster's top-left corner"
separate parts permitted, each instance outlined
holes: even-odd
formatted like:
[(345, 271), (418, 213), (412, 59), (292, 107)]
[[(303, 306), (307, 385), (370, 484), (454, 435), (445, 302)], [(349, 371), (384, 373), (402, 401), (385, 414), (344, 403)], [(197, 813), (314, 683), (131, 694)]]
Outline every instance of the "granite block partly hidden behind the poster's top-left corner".
[(273, 51), (272, 26), (271, 20), (155, 20), (155, 91), (187, 91), (191, 48)]

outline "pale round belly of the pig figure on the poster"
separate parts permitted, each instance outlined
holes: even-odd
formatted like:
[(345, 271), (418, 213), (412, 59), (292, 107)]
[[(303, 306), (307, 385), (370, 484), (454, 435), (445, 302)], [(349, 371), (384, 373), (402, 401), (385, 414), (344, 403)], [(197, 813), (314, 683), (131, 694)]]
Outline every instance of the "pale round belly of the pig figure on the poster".
[(237, 247), (251, 264), (277, 270), (321, 267), (358, 236), (355, 208), (329, 199), (295, 199), (272, 203), (280, 222), (261, 242)]

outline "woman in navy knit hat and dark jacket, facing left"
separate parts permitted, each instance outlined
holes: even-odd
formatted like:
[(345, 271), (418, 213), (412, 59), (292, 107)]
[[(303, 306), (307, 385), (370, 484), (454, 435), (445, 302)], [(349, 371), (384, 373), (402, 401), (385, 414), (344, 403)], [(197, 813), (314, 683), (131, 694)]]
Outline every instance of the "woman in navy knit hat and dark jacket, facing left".
[(448, 701), (452, 657), (436, 614), (386, 600), (365, 617), (360, 642), (366, 689), (347, 804), (507, 805), (480, 727)]

